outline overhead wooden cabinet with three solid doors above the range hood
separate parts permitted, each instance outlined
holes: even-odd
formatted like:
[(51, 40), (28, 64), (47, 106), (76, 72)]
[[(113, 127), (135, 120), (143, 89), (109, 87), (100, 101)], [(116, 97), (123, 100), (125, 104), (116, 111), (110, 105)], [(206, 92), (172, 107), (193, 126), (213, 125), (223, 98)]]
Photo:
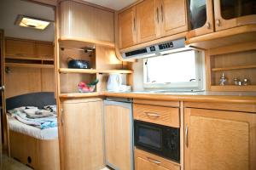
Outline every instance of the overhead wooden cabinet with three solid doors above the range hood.
[(185, 0), (145, 0), (119, 13), (119, 48), (187, 30)]

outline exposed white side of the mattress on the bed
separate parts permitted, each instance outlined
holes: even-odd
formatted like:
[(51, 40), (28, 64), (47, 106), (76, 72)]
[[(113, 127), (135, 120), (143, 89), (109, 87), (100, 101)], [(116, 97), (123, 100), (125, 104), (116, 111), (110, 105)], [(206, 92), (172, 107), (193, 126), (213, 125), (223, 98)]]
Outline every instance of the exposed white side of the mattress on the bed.
[(57, 139), (58, 127), (50, 127), (45, 129), (39, 129), (38, 127), (32, 127), (22, 122), (17, 121), (14, 117), (8, 116), (9, 129), (17, 133), (23, 133), (28, 136), (32, 136), (36, 139)]

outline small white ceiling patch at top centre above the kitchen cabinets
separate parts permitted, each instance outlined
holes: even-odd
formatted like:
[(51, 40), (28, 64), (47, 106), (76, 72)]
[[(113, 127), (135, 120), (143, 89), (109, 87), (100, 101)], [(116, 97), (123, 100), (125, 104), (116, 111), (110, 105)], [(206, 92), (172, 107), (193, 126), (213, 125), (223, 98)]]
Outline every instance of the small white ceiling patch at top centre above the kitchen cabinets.
[(137, 0), (83, 0), (83, 1), (89, 2), (89, 3), (95, 3), (102, 7), (112, 8), (114, 10), (120, 10), (122, 8), (125, 8), (131, 5), (131, 3), (135, 3)]

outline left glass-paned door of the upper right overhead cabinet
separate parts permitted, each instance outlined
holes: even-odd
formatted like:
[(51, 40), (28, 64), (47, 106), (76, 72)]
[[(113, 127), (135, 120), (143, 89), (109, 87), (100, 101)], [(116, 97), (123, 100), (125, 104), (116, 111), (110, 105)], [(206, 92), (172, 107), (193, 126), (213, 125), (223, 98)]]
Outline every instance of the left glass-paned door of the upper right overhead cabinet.
[(212, 0), (187, 0), (189, 31), (187, 37), (201, 36), (214, 31)]

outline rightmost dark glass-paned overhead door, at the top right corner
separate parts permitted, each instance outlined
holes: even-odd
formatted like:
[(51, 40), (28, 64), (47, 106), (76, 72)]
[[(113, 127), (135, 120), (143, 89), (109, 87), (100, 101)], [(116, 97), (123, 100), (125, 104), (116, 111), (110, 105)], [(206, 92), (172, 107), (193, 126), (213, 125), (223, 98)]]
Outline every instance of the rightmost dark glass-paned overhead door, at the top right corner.
[(216, 31), (256, 24), (256, 1), (215, 0), (214, 14)]

